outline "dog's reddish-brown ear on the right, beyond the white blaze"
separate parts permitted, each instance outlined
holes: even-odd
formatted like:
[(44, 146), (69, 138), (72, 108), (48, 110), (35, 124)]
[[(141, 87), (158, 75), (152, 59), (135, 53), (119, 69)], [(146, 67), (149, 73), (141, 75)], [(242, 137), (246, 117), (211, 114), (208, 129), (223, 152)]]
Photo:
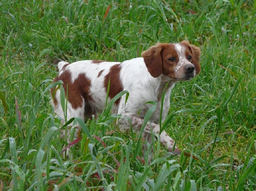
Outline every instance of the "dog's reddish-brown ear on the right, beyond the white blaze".
[(181, 44), (188, 47), (188, 49), (191, 51), (191, 53), (193, 55), (192, 56), (193, 59), (192, 59), (191, 63), (196, 68), (196, 74), (199, 74), (199, 72), (201, 71), (201, 67), (199, 64), (199, 59), (200, 59), (200, 54), (201, 54), (200, 48), (197, 46), (190, 45), (190, 43), (188, 41), (182, 41)]

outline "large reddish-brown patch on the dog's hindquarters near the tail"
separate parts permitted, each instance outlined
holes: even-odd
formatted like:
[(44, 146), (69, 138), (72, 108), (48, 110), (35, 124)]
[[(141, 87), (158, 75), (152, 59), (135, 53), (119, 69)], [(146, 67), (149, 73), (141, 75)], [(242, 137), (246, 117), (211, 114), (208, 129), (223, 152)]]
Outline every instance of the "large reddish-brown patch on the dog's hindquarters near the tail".
[[(85, 115), (86, 117), (90, 117), (90, 115), (94, 115), (95, 111), (89, 104), (89, 102), (92, 100), (90, 93), (90, 86), (91, 81), (86, 78), (84, 74), (79, 74), (78, 78), (76, 78), (73, 83), (71, 82), (71, 73), (68, 70), (63, 71), (63, 73), (59, 76), (57, 76), (53, 82), (62, 80), (63, 81), (63, 88), (65, 90), (65, 96), (68, 95), (68, 102), (71, 103), (72, 107), (74, 109), (78, 107), (83, 106), (83, 99), (85, 100)], [(50, 90), (52, 97), (54, 97), (53, 102), (55, 105), (57, 105), (57, 99), (55, 98), (55, 95), (53, 95), (53, 92), (55, 92), (56, 88), (52, 88)]]

